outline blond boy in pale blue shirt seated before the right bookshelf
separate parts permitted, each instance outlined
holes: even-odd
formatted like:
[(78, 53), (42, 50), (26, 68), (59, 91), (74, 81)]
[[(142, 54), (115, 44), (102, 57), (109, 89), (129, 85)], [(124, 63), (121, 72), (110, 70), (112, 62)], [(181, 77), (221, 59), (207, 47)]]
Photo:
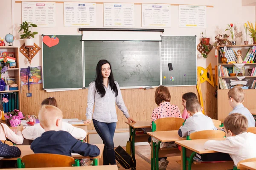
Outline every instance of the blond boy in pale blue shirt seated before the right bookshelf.
[(230, 91), (227, 94), (228, 101), (230, 106), (233, 108), (233, 111), (229, 113), (241, 113), (244, 115), (248, 120), (248, 127), (255, 127), (255, 120), (253, 118), (253, 115), (250, 113), (250, 111), (244, 107), (242, 104), (244, 102), (244, 91), (242, 88), (234, 87), (230, 89)]

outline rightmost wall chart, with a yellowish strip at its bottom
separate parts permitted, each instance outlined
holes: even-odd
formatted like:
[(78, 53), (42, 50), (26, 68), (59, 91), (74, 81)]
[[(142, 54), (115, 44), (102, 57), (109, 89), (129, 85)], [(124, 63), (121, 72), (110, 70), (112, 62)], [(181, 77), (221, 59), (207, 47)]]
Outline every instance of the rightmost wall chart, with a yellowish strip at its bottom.
[(187, 28), (206, 28), (206, 6), (179, 6), (179, 26)]

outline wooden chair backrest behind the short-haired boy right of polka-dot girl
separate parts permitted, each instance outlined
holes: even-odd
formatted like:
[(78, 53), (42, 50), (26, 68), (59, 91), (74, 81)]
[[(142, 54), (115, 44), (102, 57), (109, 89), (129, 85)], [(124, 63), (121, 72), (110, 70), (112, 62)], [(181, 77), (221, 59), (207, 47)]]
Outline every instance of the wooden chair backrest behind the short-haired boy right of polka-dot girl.
[(210, 138), (223, 138), (226, 133), (221, 130), (202, 130), (191, 133), (189, 139), (210, 139)]

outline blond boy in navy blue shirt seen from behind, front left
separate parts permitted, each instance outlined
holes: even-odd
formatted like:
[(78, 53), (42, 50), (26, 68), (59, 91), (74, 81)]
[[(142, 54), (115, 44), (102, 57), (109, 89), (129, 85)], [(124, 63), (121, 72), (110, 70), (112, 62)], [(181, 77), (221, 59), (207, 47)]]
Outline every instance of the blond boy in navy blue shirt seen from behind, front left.
[(62, 111), (52, 105), (43, 105), (38, 113), (38, 119), (45, 132), (36, 138), (30, 148), (34, 153), (53, 153), (71, 156), (79, 153), (82, 156), (96, 157), (99, 148), (92, 144), (82, 143), (70, 133), (61, 130)]

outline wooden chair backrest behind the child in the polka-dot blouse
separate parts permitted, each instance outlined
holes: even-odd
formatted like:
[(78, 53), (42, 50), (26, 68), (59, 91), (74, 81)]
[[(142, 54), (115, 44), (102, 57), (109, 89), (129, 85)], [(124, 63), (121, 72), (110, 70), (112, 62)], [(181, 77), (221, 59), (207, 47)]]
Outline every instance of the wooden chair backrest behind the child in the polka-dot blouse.
[(177, 117), (166, 117), (155, 120), (156, 130), (155, 131), (166, 131), (166, 130), (179, 130), (184, 119)]

